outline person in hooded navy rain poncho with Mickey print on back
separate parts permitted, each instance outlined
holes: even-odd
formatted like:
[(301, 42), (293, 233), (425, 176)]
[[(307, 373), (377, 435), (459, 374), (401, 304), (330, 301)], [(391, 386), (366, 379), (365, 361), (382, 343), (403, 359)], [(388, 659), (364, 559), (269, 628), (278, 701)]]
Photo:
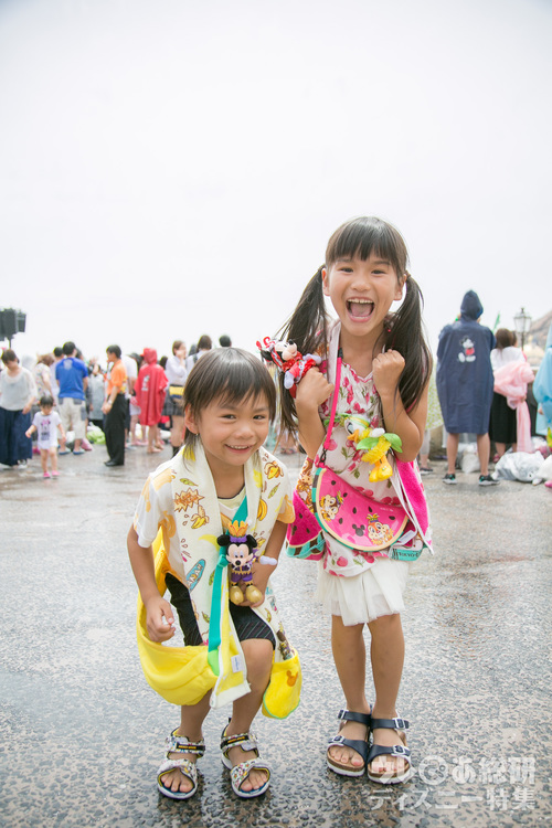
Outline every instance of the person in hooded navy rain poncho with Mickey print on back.
[(482, 306), (475, 290), (468, 290), (460, 317), (439, 333), (437, 348), (437, 392), (447, 431), (446, 484), (456, 484), (456, 457), (460, 434), (477, 435), (477, 454), (481, 467), (480, 486), (498, 481), (489, 475), (489, 414), (493, 375), (490, 352), (495, 335), (479, 323)]

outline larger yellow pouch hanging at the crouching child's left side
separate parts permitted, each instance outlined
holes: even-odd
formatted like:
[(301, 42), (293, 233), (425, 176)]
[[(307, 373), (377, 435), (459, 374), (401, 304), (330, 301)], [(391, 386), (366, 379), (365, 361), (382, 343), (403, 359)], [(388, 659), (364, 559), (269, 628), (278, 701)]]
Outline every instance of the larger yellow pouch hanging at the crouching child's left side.
[[(156, 582), (164, 594), (164, 576), (170, 571), (161, 532), (153, 543), (156, 555)], [(197, 704), (215, 682), (216, 676), (208, 664), (208, 648), (167, 647), (152, 641), (146, 628), (146, 607), (138, 594), (136, 620), (138, 652), (146, 681), (156, 692), (172, 704)]]

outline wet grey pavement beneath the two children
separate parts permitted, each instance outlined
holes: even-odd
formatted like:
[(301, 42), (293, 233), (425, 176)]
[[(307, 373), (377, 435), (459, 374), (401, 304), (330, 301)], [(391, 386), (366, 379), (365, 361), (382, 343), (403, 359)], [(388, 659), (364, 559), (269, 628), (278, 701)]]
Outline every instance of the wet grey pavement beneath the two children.
[[(105, 448), (0, 471), (0, 825), (550, 826), (552, 492), (477, 475), (425, 478), (436, 554), (412, 570), (399, 710), (416, 775), (383, 787), (338, 777), (325, 743), (342, 705), (316, 565), (282, 559), (279, 608), (304, 670), (301, 704), (259, 715), (269, 792), (240, 800), (219, 754), (225, 711), (205, 723), (200, 789), (157, 793), (174, 708), (146, 683), (135, 644), (126, 533), (144, 480), (169, 458)], [(297, 457), (286, 458), (297, 469)]]

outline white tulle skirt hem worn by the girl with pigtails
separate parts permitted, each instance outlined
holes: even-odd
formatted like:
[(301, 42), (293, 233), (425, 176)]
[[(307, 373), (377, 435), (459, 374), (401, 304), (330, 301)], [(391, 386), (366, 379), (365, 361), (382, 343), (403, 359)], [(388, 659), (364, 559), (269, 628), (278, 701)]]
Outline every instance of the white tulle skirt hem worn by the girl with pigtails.
[(320, 561), (317, 598), (330, 615), (340, 615), (346, 626), (401, 613), (410, 566), (406, 561), (379, 558), (360, 575), (338, 577), (325, 572)]

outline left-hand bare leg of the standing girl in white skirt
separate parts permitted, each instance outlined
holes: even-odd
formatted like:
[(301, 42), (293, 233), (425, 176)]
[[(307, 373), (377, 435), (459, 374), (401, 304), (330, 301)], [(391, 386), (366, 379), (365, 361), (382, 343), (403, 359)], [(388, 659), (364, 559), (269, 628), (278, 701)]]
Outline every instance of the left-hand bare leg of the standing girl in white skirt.
[[(365, 696), (367, 648), (363, 629), (363, 624), (348, 627), (340, 615), (331, 616), (333, 661), (346, 697), (347, 709), (355, 713), (370, 713), (370, 704)], [(367, 739), (367, 725), (360, 722), (344, 722), (340, 734), (347, 739), (363, 741)], [(329, 755), (342, 765), (350, 765), (354, 771), (364, 764), (357, 751), (344, 745), (332, 745), (329, 749)]]

